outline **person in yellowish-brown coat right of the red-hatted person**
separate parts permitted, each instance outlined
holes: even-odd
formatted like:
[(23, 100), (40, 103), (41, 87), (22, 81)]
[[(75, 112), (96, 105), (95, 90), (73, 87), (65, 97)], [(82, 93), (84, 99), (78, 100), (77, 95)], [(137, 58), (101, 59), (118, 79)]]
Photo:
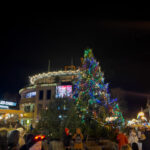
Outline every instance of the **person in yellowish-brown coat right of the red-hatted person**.
[(76, 129), (76, 133), (75, 135), (73, 136), (73, 139), (75, 140), (74, 141), (74, 149), (75, 150), (83, 150), (83, 135), (81, 133), (81, 130), (80, 128), (77, 128)]

